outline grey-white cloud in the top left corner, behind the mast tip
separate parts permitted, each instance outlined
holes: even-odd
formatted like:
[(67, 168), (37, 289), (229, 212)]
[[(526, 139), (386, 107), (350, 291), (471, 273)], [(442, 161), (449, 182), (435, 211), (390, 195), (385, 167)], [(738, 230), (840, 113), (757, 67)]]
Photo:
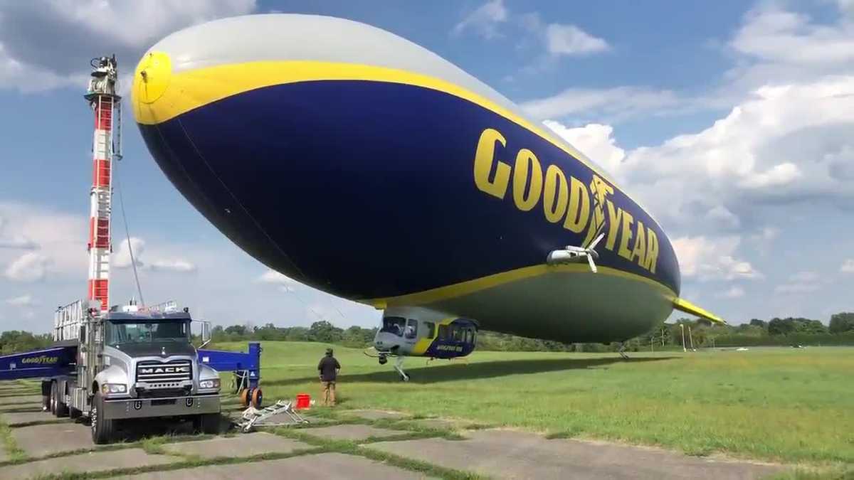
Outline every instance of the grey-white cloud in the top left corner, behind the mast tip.
[(254, 9), (255, 0), (6, 3), (0, 15), (0, 89), (82, 88), (89, 76), (89, 58), (108, 53), (102, 52), (105, 44), (120, 66), (127, 67), (168, 33)]

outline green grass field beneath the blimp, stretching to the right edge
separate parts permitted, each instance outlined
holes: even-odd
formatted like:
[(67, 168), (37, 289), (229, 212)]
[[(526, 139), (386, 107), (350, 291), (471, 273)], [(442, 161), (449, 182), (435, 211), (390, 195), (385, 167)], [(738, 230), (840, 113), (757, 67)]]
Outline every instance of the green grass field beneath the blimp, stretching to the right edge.
[[(242, 349), (245, 343), (217, 348)], [(264, 342), (267, 402), (319, 398), (326, 345)], [(339, 403), (787, 463), (854, 463), (854, 348), (617, 354), (475, 352), (407, 359), (401, 383), (359, 349), (336, 349)]]

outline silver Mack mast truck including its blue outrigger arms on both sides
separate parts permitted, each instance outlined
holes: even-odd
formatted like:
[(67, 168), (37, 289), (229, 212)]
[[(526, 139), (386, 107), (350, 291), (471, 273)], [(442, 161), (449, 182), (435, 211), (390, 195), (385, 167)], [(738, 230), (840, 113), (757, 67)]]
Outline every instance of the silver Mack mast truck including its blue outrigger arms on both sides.
[[(60, 307), (51, 348), (0, 357), (0, 379), (42, 378), (44, 410), (84, 417), (92, 441), (114, 439), (117, 423), (190, 419), (195, 430), (219, 429), (219, 372), (235, 372), (244, 404), (260, 407), (260, 344), (249, 352), (196, 348), (188, 309), (130, 305), (102, 312), (100, 302)], [(202, 347), (210, 328), (201, 323)]]

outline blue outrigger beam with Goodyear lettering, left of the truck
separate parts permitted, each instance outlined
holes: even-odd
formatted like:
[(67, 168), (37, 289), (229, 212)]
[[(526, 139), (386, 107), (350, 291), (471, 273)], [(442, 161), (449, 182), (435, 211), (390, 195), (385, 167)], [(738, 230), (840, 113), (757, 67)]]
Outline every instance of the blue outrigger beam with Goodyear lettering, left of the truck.
[(76, 345), (3, 355), (0, 357), (0, 380), (71, 375), (76, 362)]

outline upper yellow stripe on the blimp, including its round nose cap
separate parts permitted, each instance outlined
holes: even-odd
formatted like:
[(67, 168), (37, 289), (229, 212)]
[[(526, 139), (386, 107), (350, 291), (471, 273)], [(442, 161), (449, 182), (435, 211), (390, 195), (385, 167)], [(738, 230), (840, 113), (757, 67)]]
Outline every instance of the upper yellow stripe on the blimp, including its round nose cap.
[(463, 98), (536, 133), (614, 184), (607, 173), (586, 161), (576, 149), (559, 142), (542, 126), (459, 85), (396, 68), (332, 61), (249, 61), (173, 73), (172, 61), (167, 54), (149, 52), (139, 61), (134, 73), (133, 114), (138, 123), (156, 125), (244, 91), (317, 80), (368, 80), (414, 85)]

